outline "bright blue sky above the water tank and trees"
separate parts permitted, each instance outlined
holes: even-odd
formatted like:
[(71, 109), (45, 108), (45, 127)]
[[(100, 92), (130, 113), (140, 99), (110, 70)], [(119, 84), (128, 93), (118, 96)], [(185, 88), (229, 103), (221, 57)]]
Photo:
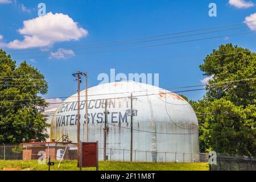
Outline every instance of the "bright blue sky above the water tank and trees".
[[(25, 20), (38, 18), (38, 4), (46, 4), (46, 13), (68, 15), (77, 34), (71, 35), (68, 39), (60, 38), (46, 40), (48, 35), (36, 32), (36, 26), (49, 26), (46, 21), (44, 24), (31, 23), (27, 26), (35, 26), (35, 30), (24, 27)], [(217, 16), (208, 15), (209, 3), (217, 5)], [(40, 50), (27, 52), (24, 55), (13, 55), (23, 46), (27, 49), (39, 48), (40, 43), (23, 42), (24, 35), (32, 36), (39, 34), (43, 43), (48, 46), (64, 47), (77, 44), (108, 42), (112, 40), (140, 38), (144, 36), (154, 36), (159, 34), (169, 34), (174, 32), (189, 31), (200, 28), (216, 27), (232, 23), (240, 23), (247, 16), (256, 13), (256, 1), (242, 0), (221, 0), (221, 1), (11, 1), (0, 0), (0, 46), (7, 50), (13, 57), (44, 56), (33, 59), (26, 59), (27, 63), (39, 68), (49, 82), (49, 92), (44, 97), (69, 96), (76, 92), (76, 82), (73, 81), (72, 73), (80, 70), (88, 72), (89, 86), (97, 85), (97, 76), (100, 73), (110, 74), (110, 69), (114, 68), (116, 73), (159, 73), (159, 86), (170, 88), (175, 86), (187, 86), (201, 84), (205, 76), (200, 71), (199, 65), (203, 63), (204, 57), (217, 49), (220, 44), (233, 43), (241, 47), (255, 51), (255, 33), (226, 36), (218, 39), (201, 40), (198, 42), (188, 42), (167, 46), (151, 48), (131, 49), (126, 51), (90, 53), (75, 56), (47, 57), (51, 49), (43, 53)], [(255, 15), (256, 16), (256, 15)], [(255, 18), (251, 16), (251, 18)], [(64, 16), (61, 16), (64, 17)], [(65, 16), (67, 18), (67, 16)], [(60, 20), (61, 22), (61, 20)], [(77, 22), (74, 23), (74, 22)], [(40, 24), (40, 25), (39, 25)], [(62, 26), (62, 25), (60, 25)], [(245, 26), (241, 24), (240, 26)], [(23, 30), (23, 31), (18, 31)], [(42, 28), (38, 29), (39, 31)], [(63, 31), (56, 28), (57, 31)], [(253, 29), (252, 29), (253, 30)], [(254, 29), (255, 30), (255, 29)], [(66, 30), (68, 31), (68, 30)], [(236, 31), (217, 32), (191, 36), (181, 39), (164, 40), (162, 42), (151, 42), (138, 45), (121, 46), (134, 47), (158, 43), (170, 43), (197, 38), (207, 38), (226, 34), (236, 34), (237, 32), (250, 31), (249, 27)], [(22, 33), (23, 32), (23, 33)], [(73, 36), (73, 37), (72, 37)], [(18, 40), (19, 44), (14, 44)], [(63, 40), (63, 41), (61, 41)], [(49, 41), (49, 42), (47, 42)], [(13, 44), (10, 44), (13, 42)], [(10, 46), (12, 45), (12, 46)], [(18, 46), (17, 46), (18, 45)], [(16, 46), (16, 47), (15, 47)], [(119, 47), (114, 47), (119, 48)], [(72, 51), (72, 48), (64, 48), (65, 51)], [(67, 50), (68, 49), (68, 50)], [(83, 51), (102, 51), (109, 48), (93, 48), (76, 50), (74, 53)], [(113, 48), (112, 48), (113, 49)], [(54, 54), (54, 51), (52, 51)], [(61, 51), (60, 51), (61, 52)], [(20, 52), (19, 52), (20, 53)], [(20, 63), (22, 59), (18, 59)], [(82, 85), (84, 89), (84, 85)], [(190, 99), (197, 100), (205, 91), (184, 93)]]

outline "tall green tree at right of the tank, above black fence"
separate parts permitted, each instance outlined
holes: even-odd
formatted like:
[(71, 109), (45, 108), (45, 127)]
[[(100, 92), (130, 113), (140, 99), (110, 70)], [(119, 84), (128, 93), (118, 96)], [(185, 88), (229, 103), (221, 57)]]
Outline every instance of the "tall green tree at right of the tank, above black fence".
[[(213, 76), (208, 92), (192, 103), (200, 123), (200, 144), (206, 151), (256, 155), (256, 54), (249, 49), (221, 45), (200, 65), (206, 76)], [(239, 82), (227, 82), (242, 80)], [(226, 82), (225, 84), (217, 84)]]

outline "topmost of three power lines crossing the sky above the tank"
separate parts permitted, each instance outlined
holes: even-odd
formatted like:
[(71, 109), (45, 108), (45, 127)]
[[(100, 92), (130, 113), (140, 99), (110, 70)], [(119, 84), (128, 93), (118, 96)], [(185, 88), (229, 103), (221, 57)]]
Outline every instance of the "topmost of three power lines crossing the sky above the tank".
[(108, 41), (108, 42), (96, 42), (96, 43), (86, 43), (86, 44), (78, 44), (78, 45), (69, 45), (69, 46), (61, 46), (61, 47), (46, 47), (46, 48), (26, 48), (26, 49), (19, 49), (19, 50), (7, 50), (9, 52), (18, 52), (18, 51), (34, 51), (34, 50), (43, 50), (43, 49), (53, 49), (53, 48), (67, 48), (67, 47), (79, 47), (79, 46), (90, 46), (90, 45), (96, 45), (96, 44), (106, 44), (106, 43), (117, 43), (117, 42), (127, 42), (130, 40), (141, 40), (141, 39), (150, 39), (150, 38), (156, 38), (160, 36), (168, 36), (168, 35), (179, 35), (179, 34), (186, 34), (191, 32), (197, 32), (197, 31), (204, 31), (204, 30), (212, 30), (217, 28), (224, 28), (224, 27), (230, 27), (230, 26), (236, 26), (238, 24), (244, 24), (244, 23), (251, 23), (256, 22), (256, 20), (249, 21), (249, 22), (240, 22), (240, 23), (232, 23), (232, 24), (225, 24), (217, 27), (209, 27), (209, 28), (200, 28), (196, 30), (188, 30), (188, 31), (181, 31), (181, 32), (174, 32), (169, 34), (160, 34), (160, 35), (153, 35), (153, 36), (144, 36), (141, 38), (132, 38), (132, 39), (122, 39), (122, 40), (114, 40), (114, 41)]

